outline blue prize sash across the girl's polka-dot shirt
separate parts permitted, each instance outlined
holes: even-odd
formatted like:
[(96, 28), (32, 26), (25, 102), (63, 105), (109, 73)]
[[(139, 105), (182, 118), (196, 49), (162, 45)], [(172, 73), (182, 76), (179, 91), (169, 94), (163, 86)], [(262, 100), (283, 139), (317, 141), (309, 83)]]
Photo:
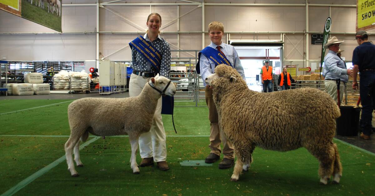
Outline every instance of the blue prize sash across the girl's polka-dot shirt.
[(139, 36), (131, 41), (129, 46), (130, 48), (134, 47), (139, 53), (141, 53), (157, 72), (160, 71), (160, 62), (162, 59), (160, 52), (152, 46), (150, 41), (146, 41), (145, 38)]

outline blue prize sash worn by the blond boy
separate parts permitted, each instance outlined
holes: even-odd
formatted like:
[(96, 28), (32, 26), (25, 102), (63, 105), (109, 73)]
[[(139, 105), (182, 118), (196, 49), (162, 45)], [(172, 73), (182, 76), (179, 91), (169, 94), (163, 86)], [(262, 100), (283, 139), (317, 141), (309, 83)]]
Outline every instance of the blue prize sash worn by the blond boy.
[(222, 55), (218, 50), (215, 50), (211, 48), (210, 46), (207, 46), (203, 50), (201, 50), (201, 52), (199, 52), (198, 54), (198, 63), (196, 63), (196, 66), (195, 66), (195, 70), (198, 74), (201, 73), (201, 68), (199, 64), (199, 59), (201, 59), (201, 54), (203, 54), (208, 59), (211, 59), (213, 62), (215, 62), (216, 63), (215, 67), (220, 64), (225, 64), (225, 65), (229, 65), (233, 67), (231, 62), (229, 62), (229, 60), (224, 55)]

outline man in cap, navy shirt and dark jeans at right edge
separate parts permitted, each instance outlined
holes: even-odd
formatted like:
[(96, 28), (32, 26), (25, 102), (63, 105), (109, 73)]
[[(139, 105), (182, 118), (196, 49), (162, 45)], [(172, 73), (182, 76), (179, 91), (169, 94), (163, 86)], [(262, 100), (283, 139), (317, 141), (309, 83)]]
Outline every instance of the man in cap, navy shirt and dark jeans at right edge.
[(369, 42), (366, 31), (358, 31), (356, 40), (359, 46), (354, 49), (352, 57), (353, 89), (358, 88), (357, 72), (359, 71), (361, 73), (359, 94), (362, 104), (361, 137), (368, 140), (372, 130), (372, 111), (375, 103), (375, 46)]

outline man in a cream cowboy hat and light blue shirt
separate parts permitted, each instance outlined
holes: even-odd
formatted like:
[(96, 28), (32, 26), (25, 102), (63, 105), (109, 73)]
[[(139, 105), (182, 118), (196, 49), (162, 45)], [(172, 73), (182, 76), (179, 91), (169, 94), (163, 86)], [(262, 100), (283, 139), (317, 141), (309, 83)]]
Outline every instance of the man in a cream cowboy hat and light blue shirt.
[(348, 82), (348, 75), (353, 75), (352, 70), (347, 69), (343, 60), (337, 53), (340, 49), (340, 43), (344, 41), (339, 41), (336, 37), (331, 37), (328, 39), (327, 44), (324, 48), (329, 49), (328, 54), (324, 57), (324, 68), (323, 76), (325, 92), (328, 93), (332, 99), (338, 102), (337, 98), (337, 84), (340, 80), (340, 102), (342, 101), (342, 96), (344, 95), (345, 83)]

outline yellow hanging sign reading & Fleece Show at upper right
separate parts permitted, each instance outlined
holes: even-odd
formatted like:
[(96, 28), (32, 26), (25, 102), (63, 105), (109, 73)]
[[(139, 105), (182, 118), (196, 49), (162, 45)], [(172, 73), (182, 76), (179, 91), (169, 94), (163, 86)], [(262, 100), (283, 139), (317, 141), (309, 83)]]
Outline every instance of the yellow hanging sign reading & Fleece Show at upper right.
[(375, 0), (357, 0), (356, 31), (375, 28)]

